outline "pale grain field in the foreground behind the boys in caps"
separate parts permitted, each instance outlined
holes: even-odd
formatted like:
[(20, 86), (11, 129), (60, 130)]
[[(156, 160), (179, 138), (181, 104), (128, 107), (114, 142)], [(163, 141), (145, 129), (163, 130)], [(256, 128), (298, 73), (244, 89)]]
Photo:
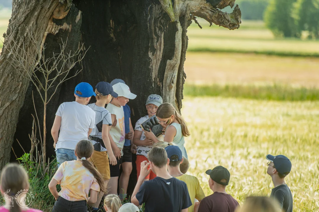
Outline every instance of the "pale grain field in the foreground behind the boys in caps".
[(226, 191), (240, 204), (249, 195), (270, 195), (265, 156), (284, 154), (292, 161), (286, 182), (294, 211), (319, 210), (319, 102), (277, 102), (233, 98), (183, 101), (182, 114), (191, 136), (186, 139), (189, 174), (199, 178), (206, 195), (207, 169), (222, 165), (231, 173)]

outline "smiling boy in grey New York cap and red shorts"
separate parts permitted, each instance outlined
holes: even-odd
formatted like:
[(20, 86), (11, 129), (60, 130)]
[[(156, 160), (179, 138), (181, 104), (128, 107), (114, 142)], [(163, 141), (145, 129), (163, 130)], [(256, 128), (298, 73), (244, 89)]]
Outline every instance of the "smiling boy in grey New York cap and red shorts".
[[(137, 146), (136, 152), (136, 169), (137, 169), (137, 179), (139, 177), (141, 171), (141, 163), (143, 161), (147, 161), (147, 154), (153, 147), (153, 140), (147, 139), (145, 137), (144, 131), (141, 127), (141, 124), (144, 123), (146, 120), (151, 118), (153, 115), (156, 115), (156, 111), (158, 107), (163, 103), (163, 99), (161, 96), (156, 94), (151, 94), (147, 97), (146, 100), (146, 110), (147, 115), (140, 118), (136, 124), (134, 129), (134, 137), (133, 137), (133, 144)], [(146, 177), (145, 181), (152, 180), (156, 177), (156, 175), (151, 171)]]

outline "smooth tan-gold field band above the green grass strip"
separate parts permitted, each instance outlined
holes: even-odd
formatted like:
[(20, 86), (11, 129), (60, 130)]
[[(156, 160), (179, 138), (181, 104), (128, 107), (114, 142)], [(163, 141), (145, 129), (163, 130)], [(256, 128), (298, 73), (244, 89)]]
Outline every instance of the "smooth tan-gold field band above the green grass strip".
[(187, 52), (184, 70), (189, 84), (278, 83), (319, 87), (319, 58)]

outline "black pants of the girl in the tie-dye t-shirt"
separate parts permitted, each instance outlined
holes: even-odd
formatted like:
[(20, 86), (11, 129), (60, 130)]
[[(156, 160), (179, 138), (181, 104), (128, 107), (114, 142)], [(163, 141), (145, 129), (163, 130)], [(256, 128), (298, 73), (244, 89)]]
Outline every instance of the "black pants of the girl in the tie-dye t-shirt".
[(86, 200), (69, 201), (59, 196), (54, 203), (52, 212), (87, 212)]

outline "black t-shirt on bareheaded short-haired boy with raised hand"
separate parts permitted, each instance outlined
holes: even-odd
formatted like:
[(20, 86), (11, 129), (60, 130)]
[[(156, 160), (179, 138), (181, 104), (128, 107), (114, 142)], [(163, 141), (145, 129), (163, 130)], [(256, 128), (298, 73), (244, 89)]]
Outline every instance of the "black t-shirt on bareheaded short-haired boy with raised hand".
[(145, 181), (136, 198), (140, 205), (145, 202), (145, 212), (180, 212), (192, 205), (186, 183), (174, 177)]

